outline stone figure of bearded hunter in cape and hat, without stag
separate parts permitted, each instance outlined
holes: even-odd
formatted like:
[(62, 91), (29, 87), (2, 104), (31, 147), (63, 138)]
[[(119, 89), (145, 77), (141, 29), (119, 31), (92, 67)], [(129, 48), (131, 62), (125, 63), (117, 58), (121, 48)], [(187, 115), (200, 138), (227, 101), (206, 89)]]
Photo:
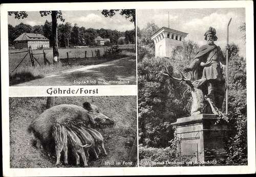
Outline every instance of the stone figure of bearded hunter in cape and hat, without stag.
[(202, 90), (203, 93), (215, 103), (217, 108), (221, 109), (225, 96), (222, 65), (226, 65), (226, 59), (220, 46), (214, 43), (214, 41), (218, 40), (216, 30), (210, 27), (204, 36), (207, 44), (199, 48), (193, 62), (182, 71), (184, 73), (192, 72), (194, 80), (205, 79), (206, 89)]

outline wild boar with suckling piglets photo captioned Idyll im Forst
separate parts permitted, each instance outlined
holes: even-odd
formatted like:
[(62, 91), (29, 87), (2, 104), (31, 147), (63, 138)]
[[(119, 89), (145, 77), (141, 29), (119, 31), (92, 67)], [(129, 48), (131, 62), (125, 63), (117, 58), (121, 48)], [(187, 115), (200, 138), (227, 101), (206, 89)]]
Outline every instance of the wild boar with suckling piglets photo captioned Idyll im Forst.
[(136, 96), (10, 97), (10, 168), (135, 167)]

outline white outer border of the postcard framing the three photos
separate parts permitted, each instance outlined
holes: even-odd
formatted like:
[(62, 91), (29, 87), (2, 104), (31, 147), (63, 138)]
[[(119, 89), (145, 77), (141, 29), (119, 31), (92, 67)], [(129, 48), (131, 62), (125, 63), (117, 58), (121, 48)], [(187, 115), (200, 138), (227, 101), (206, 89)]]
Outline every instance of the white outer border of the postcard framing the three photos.
[[(185, 9), (185, 8), (246, 8), (246, 68), (248, 117), (248, 166), (204, 167), (129, 167), (129, 168), (27, 168), (10, 169), (9, 162), (9, 79), (8, 79), (8, 11), (100, 9)], [(220, 19), (221, 20), (221, 19)], [(255, 109), (254, 109), (254, 34), (252, 1), (212, 2), (108, 2), (108, 3), (42, 3), (1, 5), (1, 79), (2, 135), (4, 176), (73, 176), (73, 175), (161, 175), (161, 174), (239, 174), (255, 173)], [(136, 38), (137, 41), (137, 38)], [(249, 76), (249, 77), (248, 77)], [(107, 87), (107, 86), (106, 86)], [(123, 86), (125, 87), (125, 86)]]

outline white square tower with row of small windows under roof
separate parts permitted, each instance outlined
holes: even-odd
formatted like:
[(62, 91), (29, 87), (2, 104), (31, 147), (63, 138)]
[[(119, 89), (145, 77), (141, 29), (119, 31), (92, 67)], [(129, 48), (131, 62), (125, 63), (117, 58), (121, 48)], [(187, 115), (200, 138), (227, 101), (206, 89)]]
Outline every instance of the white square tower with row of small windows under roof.
[(162, 27), (151, 36), (155, 43), (156, 57), (170, 57), (176, 45), (182, 44), (188, 33)]

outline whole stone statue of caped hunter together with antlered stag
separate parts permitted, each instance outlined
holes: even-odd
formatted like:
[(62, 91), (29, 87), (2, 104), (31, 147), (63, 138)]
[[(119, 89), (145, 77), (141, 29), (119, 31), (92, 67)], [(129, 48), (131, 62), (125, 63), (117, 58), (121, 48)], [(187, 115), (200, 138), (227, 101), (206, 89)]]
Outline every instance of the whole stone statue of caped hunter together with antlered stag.
[[(189, 67), (182, 69), (183, 73), (190, 73), (188, 79), (181, 73), (178, 79), (169, 74), (167, 68), (163, 73), (177, 81), (184, 81), (189, 87), (193, 97), (191, 115), (195, 114), (222, 114), (223, 99), (225, 96), (225, 80), (222, 73), (222, 65), (226, 64), (220, 46), (215, 45), (217, 41), (216, 30), (212, 27), (204, 34), (206, 45), (199, 48), (194, 60)], [(227, 46), (228, 47), (228, 46)]]

